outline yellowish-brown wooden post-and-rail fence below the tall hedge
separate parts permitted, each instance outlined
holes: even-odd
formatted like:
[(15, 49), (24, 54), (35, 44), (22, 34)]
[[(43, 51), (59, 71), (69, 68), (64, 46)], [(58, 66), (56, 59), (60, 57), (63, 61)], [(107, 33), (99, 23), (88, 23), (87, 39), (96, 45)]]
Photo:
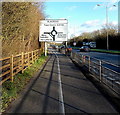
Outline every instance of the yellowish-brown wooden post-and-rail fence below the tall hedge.
[(11, 55), (0, 59), (0, 63), (2, 63), (0, 67), (0, 85), (7, 80), (13, 82), (13, 77), (19, 72), (23, 73), (42, 53), (43, 49), (37, 49), (32, 52), (22, 52), (15, 56)]

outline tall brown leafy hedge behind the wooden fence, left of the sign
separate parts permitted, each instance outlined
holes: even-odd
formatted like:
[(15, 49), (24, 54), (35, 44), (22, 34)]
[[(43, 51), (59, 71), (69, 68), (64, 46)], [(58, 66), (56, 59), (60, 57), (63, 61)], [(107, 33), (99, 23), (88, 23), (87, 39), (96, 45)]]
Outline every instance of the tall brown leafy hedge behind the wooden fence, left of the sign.
[(2, 57), (43, 47), (38, 41), (43, 3), (2, 2)]

